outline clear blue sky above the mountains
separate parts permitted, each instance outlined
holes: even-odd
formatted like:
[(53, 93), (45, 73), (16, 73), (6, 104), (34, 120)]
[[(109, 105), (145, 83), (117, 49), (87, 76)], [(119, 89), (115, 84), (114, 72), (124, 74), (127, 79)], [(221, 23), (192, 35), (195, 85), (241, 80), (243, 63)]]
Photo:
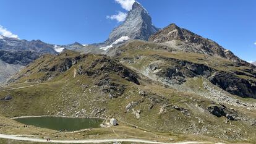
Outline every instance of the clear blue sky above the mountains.
[[(156, 27), (170, 23), (210, 38), (245, 61), (256, 61), (255, 0), (138, 0)], [(0, 29), (53, 44), (105, 41), (126, 13), (115, 0), (1, 0)], [(10, 34), (10, 33), (9, 33)]]

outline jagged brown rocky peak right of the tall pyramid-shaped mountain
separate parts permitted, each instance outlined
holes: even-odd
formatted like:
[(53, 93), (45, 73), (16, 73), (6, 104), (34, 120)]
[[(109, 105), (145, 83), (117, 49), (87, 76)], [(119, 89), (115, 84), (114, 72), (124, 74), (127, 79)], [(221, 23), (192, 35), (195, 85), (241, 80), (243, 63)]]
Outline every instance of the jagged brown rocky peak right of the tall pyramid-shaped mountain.
[(184, 28), (179, 28), (174, 23), (149, 38), (149, 41), (153, 41), (155, 43), (165, 43), (172, 40), (182, 41), (184, 46), (180, 48), (183, 51), (208, 54), (210, 56), (220, 56), (249, 65), (247, 62), (242, 61), (239, 57), (235, 56), (228, 49), (221, 47), (215, 41), (203, 38), (202, 36), (192, 33)]

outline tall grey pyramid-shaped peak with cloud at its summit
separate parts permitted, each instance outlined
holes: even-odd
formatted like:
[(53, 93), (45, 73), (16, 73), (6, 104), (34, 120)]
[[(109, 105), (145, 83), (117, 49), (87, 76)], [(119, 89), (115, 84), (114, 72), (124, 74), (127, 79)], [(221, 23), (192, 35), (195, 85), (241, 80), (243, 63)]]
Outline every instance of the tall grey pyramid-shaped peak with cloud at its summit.
[(106, 43), (111, 44), (122, 36), (129, 36), (132, 40), (148, 40), (150, 35), (158, 30), (153, 26), (148, 12), (138, 2), (134, 2), (124, 23), (114, 28)]

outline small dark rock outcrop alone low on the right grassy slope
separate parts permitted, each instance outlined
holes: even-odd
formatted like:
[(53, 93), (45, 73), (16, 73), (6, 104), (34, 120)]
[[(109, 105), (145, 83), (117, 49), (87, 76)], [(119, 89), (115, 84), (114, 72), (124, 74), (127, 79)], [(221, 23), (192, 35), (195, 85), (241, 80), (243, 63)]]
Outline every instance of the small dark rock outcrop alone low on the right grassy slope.
[(226, 106), (209, 106), (207, 110), (216, 117), (224, 116), (231, 121), (240, 120), (240, 117), (237, 116), (237, 112), (226, 108)]

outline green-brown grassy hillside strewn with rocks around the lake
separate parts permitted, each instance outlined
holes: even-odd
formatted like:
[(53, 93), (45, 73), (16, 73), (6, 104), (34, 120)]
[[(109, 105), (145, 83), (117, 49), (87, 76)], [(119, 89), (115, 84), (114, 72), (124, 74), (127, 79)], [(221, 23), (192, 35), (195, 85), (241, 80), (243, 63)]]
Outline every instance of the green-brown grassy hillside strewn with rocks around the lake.
[[(247, 101), (230, 95), (209, 83), (204, 75), (186, 76), (186, 82), (169, 85), (163, 81), (166, 79), (161, 79), (164, 73), (156, 75), (157, 69), (155, 73), (145, 73), (146, 67), (155, 61), (163, 61), (160, 69), (176, 64), (174, 61), (179, 60), (187, 61), (187, 64), (202, 62), (210, 67), (208, 70), (224, 69), (225, 64), (233, 62), (219, 59), (217, 66), (214, 66), (212, 61), (216, 61), (215, 57), (168, 53), (169, 50), (161, 51), (161, 45), (153, 45), (160, 46), (155, 51), (156, 47), (149, 49), (151, 43), (135, 43), (121, 48), (123, 53), (117, 54), (116, 59), (103, 55), (80, 55), (72, 51), (37, 59), (15, 75), (8, 86), (1, 88), (0, 98), (11, 95), (12, 100), (0, 101), (0, 114), (8, 118), (33, 115), (115, 117), (121, 124), (111, 129), (95, 129), (92, 138), (96, 135), (110, 137), (109, 131), (114, 129), (118, 137), (153, 138), (159, 141), (161, 137), (173, 138), (174, 141), (197, 137), (198, 140), (255, 143), (256, 110), (253, 105), (250, 106), (255, 103), (254, 100)], [(235, 68), (249, 69), (230, 66), (226, 70)], [(181, 72), (185, 74), (190, 71), (182, 68)], [(205, 88), (205, 85), (212, 90)], [(213, 90), (218, 95), (227, 96), (229, 101), (239, 100), (240, 104), (222, 103), (219, 98), (211, 98), (211, 95), (215, 95), (210, 93)], [(216, 117), (208, 111), (211, 106), (221, 108), (223, 104), (227, 111), (236, 114), (240, 120)], [(144, 131), (149, 133), (145, 135)], [(84, 138), (76, 134), (70, 137)]]

